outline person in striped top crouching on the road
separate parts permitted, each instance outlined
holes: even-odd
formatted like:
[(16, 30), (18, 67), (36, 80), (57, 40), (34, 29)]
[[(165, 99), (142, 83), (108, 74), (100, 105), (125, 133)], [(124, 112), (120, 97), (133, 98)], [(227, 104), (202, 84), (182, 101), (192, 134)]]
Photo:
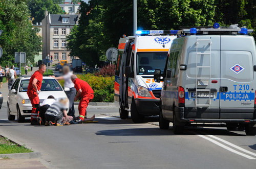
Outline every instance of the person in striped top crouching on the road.
[(60, 99), (58, 102), (54, 102), (45, 113), (46, 126), (56, 125), (62, 126), (70, 125), (69, 122), (73, 120), (72, 116), (67, 114), (68, 99)]

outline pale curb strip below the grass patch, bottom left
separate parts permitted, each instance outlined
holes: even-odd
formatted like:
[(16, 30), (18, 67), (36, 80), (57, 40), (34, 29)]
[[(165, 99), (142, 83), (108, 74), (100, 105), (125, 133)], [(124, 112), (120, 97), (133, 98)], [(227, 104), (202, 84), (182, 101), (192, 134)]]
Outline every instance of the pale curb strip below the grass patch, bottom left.
[(0, 154), (0, 158), (12, 158), (12, 159), (34, 159), (40, 158), (40, 152), (31, 152), (31, 153), (13, 153), (13, 154)]

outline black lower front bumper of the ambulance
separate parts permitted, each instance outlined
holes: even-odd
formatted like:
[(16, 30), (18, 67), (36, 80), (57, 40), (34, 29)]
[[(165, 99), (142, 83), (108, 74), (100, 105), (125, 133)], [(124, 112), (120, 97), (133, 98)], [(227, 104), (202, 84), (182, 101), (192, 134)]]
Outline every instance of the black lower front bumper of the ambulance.
[(160, 108), (159, 100), (155, 99), (134, 99), (137, 111), (140, 114), (146, 115), (146, 116), (151, 116), (151, 115), (159, 115), (160, 113)]

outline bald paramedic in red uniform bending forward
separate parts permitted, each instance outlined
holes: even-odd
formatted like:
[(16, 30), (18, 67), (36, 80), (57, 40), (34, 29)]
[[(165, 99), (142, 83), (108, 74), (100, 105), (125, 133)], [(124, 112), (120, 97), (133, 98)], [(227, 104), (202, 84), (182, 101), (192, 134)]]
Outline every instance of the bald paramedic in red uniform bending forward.
[(87, 118), (86, 108), (87, 108), (89, 102), (91, 102), (93, 100), (94, 92), (93, 92), (93, 89), (91, 88), (91, 86), (87, 82), (77, 78), (75, 75), (71, 76), (71, 80), (75, 84), (75, 88), (77, 91), (77, 94), (76, 94), (74, 100), (77, 101), (79, 96), (81, 98), (80, 103), (78, 105), (79, 119), (76, 120), (76, 122), (82, 123), (83, 119)]

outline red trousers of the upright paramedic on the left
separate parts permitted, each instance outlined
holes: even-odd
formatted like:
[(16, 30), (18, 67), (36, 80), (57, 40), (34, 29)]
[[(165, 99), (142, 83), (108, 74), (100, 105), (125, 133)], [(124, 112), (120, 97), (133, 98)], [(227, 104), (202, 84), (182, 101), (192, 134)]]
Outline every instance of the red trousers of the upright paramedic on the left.
[[(39, 108), (40, 101), (39, 101), (38, 94), (34, 90), (28, 90), (27, 94), (28, 94), (29, 100), (32, 104), (32, 112), (31, 112), (31, 119), (30, 120), (33, 120), (33, 119), (36, 120), (37, 117), (39, 117), (39, 113), (38, 113), (39, 109), (38, 108)], [(36, 110), (36, 109), (38, 109), (38, 110)]]

